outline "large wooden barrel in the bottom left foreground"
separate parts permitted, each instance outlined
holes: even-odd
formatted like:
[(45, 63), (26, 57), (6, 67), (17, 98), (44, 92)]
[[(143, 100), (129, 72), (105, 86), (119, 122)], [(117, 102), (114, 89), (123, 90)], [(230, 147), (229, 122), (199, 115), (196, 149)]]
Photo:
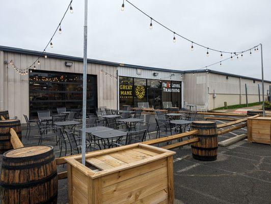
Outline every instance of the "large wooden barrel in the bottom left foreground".
[(5, 152), (0, 196), (3, 204), (57, 203), (58, 179), (53, 147), (22, 147)]

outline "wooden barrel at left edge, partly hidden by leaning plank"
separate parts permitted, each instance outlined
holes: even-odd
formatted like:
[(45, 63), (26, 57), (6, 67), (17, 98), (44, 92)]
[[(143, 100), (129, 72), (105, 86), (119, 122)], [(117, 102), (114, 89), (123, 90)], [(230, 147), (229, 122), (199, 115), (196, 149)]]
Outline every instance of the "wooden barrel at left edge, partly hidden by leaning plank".
[(20, 120), (0, 120), (0, 154), (13, 149), (10, 142), (10, 128), (13, 128), (21, 140), (21, 122)]

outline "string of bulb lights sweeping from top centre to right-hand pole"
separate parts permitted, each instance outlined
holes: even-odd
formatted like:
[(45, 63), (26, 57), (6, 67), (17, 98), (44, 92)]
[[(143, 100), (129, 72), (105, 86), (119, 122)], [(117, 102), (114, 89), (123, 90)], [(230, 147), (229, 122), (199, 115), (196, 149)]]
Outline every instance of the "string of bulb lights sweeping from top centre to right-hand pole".
[[(188, 38), (186, 38), (186, 37), (184, 37), (184, 36), (182, 36), (182, 35), (180, 35), (180, 34), (174, 32), (172, 29), (168, 28), (166, 25), (164, 25), (164, 24), (160, 23), (159, 21), (155, 20), (155, 19), (152, 18), (149, 14), (145, 13), (144, 11), (142, 11), (140, 8), (138, 8), (137, 6), (135, 6), (134, 4), (132, 4), (131, 2), (129, 2), (128, 0), (125, 0), (125, 1), (126, 1), (128, 4), (130, 4), (132, 7), (136, 8), (138, 11), (140, 11), (142, 14), (144, 14), (145, 16), (147, 16), (147, 17), (150, 19), (150, 26), (149, 26), (150, 30), (152, 30), (152, 28), (153, 28), (153, 22), (156, 22), (158, 25), (160, 25), (161, 27), (163, 27), (163, 28), (165, 28), (166, 30), (168, 30), (169, 32), (171, 32), (171, 33), (173, 34), (173, 42), (174, 42), (174, 43), (177, 41), (176, 36), (178, 36), (178, 37), (180, 37), (180, 38), (182, 38), (182, 39), (184, 39), (184, 40), (186, 40), (186, 41), (189, 41), (189, 42), (191, 43), (191, 50), (192, 50), (192, 51), (194, 50), (195, 45), (200, 46), (200, 47), (203, 47), (203, 48), (206, 48), (206, 49), (207, 49), (207, 51), (206, 51), (206, 56), (207, 56), (207, 57), (209, 57), (209, 50), (212, 50), (212, 51), (214, 51), (214, 52), (219, 53), (221, 59), (223, 59), (223, 54), (230, 54), (230, 57), (228, 57), (228, 58), (226, 58), (226, 59), (224, 59), (224, 60), (220, 60), (220, 61), (218, 61), (218, 62), (212, 63), (212, 64), (210, 64), (210, 65), (201, 67), (201, 68), (199, 68), (199, 69), (196, 69), (195, 72), (198, 71), (198, 70), (200, 70), (200, 69), (204, 69), (204, 68), (205, 68), (205, 69), (206, 69), (206, 72), (208, 73), (208, 67), (210, 67), (210, 66), (213, 66), (213, 65), (215, 65), (215, 64), (220, 64), (220, 66), (222, 66), (222, 62), (223, 62), (223, 61), (226, 61), (226, 60), (229, 60), (229, 59), (233, 60), (234, 57), (236, 57), (236, 59), (238, 60), (238, 59), (239, 59), (239, 56), (240, 56), (240, 58), (243, 58), (243, 54), (246, 53), (246, 52), (250, 52), (250, 56), (251, 56), (251, 55), (252, 55), (252, 52), (251, 52), (252, 49), (254, 49), (255, 52), (258, 52), (258, 50), (259, 50), (258, 46), (259, 46), (260, 44), (257, 44), (257, 45), (255, 45), (255, 46), (249, 48), (249, 49), (245, 49), (245, 50), (242, 50), (242, 51), (239, 51), (239, 52), (235, 52), (235, 51), (229, 52), (229, 51), (225, 51), (225, 50), (218, 50), (218, 49), (210, 48), (210, 47), (208, 47), (208, 46), (205, 46), (205, 45), (202, 45), (202, 44), (197, 43), (197, 42), (195, 42), (195, 41), (192, 41), (192, 40), (190, 40), (190, 39), (188, 39)], [(124, 5), (124, 0), (123, 0), (122, 6), (121, 6), (121, 11), (124, 11), (124, 6), (125, 6), (125, 5)], [(177, 75), (181, 75), (181, 76), (182, 76), (182, 74), (177, 74)], [(175, 76), (176, 76), (176, 75), (175, 75)], [(169, 75), (168, 77), (164, 77), (164, 78), (160, 78), (160, 79), (166, 79), (166, 78), (171, 78), (171, 77), (172, 77), (172, 76)]]

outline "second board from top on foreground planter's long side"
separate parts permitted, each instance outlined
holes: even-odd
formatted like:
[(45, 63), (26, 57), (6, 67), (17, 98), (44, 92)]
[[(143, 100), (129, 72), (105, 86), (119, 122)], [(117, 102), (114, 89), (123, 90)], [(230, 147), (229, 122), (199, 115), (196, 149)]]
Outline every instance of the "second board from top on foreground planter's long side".
[[(117, 184), (113, 184), (111, 186), (107, 186), (102, 188), (102, 194), (103, 194), (103, 201), (109, 200), (109, 199), (118, 199), (120, 197), (125, 197), (123, 194), (128, 193), (130, 194), (130, 191), (133, 191), (135, 189), (147, 186), (151, 183), (157, 182), (157, 178), (159, 178), (158, 181), (164, 180), (162, 183), (166, 183), (165, 188), (168, 187), (168, 169), (167, 167), (163, 167), (154, 171), (147, 172), (145, 174), (132, 177), (131, 179), (125, 180), (123, 182), (119, 182)], [(160, 185), (159, 185), (160, 186)], [(163, 188), (164, 189), (164, 188)], [(145, 189), (147, 190), (147, 189)], [(162, 189), (159, 189), (162, 190)], [(150, 191), (152, 192), (152, 191)], [(149, 194), (149, 193), (148, 193)], [(135, 195), (134, 195), (135, 196)], [(114, 203), (114, 202), (111, 202)]]

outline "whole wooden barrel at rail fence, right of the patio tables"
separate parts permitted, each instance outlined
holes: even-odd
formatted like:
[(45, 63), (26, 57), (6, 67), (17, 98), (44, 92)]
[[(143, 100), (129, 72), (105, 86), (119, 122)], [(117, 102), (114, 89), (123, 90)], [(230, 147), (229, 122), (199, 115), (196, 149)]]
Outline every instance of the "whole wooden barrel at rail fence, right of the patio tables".
[(218, 131), (213, 121), (194, 121), (192, 130), (198, 130), (200, 141), (191, 145), (193, 158), (200, 161), (214, 161), (218, 156)]

